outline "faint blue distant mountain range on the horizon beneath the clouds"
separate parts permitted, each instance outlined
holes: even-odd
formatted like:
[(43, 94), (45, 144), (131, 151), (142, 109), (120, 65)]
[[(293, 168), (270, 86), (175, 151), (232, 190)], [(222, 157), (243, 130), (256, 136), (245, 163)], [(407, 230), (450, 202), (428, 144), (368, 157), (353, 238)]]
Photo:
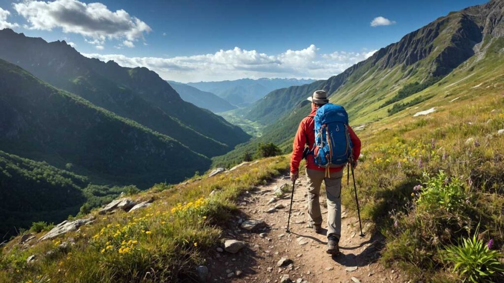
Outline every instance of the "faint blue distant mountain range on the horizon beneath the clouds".
[(240, 79), (221, 82), (187, 83), (202, 91), (215, 93), (233, 105), (244, 107), (263, 98), (269, 92), (290, 86), (308, 84), (313, 80), (297, 79)]

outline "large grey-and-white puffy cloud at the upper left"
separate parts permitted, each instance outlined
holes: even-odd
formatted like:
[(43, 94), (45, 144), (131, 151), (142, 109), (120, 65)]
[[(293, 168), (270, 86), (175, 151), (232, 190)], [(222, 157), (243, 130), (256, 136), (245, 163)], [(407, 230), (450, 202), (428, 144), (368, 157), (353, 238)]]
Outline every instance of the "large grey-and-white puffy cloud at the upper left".
[(124, 10), (112, 12), (101, 3), (86, 4), (77, 0), (53, 2), (25, 0), (13, 5), (16, 12), (29, 23), (27, 28), (81, 34), (88, 43), (100, 46), (107, 39), (133, 41), (143, 38), (151, 28)]

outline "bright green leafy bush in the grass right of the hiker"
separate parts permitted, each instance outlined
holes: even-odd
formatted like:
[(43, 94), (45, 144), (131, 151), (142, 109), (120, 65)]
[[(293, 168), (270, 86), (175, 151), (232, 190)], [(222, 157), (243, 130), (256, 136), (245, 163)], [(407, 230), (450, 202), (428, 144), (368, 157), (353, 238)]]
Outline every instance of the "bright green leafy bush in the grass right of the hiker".
[(427, 177), (427, 181), (424, 183), (425, 189), (419, 193), (416, 200), (418, 207), (427, 210), (443, 208), (447, 211), (463, 208), (466, 192), (459, 178), (449, 178), (443, 171), (439, 171), (434, 177), (424, 176)]

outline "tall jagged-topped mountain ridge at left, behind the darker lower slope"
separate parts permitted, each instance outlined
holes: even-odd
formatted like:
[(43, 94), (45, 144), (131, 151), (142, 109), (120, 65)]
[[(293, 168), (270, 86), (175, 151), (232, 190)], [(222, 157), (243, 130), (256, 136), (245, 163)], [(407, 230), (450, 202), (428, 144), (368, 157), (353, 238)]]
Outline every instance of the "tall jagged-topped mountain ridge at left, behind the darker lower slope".
[(249, 135), (222, 117), (183, 101), (147, 68), (121, 67), (82, 56), (65, 41), (47, 43), (10, 29), (0, 31), (0, 58), (37, 78), (135, 120), (207, 157), (223, 154)]

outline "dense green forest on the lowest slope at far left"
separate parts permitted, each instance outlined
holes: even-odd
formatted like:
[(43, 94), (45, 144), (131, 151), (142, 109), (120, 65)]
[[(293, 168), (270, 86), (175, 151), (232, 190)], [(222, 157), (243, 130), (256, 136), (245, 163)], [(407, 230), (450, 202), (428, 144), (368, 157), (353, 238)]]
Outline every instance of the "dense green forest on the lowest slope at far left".
[[(72, 164), (68, 164), (69, 169)], [(32, 222), (59, 223), (117, 197), (124, 188), (0, 151), (0, 242)]]

